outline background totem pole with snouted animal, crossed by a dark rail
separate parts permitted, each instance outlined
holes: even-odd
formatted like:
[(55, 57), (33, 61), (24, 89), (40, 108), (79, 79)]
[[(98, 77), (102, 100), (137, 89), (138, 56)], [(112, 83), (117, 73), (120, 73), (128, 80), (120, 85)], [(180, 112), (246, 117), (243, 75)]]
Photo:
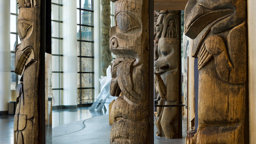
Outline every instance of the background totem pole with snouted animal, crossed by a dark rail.
[[(179, 15), (178, 11), (160, 11), (157, 19), (159, 38), (155, 61), (155, 87), (158, 105), (179, 104)], [(158, 107), (156, 126), (159, 137), (178, 138), (179, 108)]]

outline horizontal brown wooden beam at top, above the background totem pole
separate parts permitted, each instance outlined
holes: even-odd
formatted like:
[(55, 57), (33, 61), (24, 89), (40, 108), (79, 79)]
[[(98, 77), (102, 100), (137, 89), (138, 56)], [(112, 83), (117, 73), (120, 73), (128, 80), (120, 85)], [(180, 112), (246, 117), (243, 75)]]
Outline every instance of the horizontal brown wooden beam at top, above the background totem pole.
[(188, 0), (154, 0), (154, 10), (184, 10)]

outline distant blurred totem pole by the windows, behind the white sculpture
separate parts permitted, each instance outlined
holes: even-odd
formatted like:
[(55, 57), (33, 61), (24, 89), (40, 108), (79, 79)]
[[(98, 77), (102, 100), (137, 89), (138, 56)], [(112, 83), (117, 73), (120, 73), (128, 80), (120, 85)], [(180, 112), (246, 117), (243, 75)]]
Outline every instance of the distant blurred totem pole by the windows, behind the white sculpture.
[(106, 76), (106, 69), (111, 65), (112, 55), (109, 49), (110, 0), (101, 0), (101, 75)]

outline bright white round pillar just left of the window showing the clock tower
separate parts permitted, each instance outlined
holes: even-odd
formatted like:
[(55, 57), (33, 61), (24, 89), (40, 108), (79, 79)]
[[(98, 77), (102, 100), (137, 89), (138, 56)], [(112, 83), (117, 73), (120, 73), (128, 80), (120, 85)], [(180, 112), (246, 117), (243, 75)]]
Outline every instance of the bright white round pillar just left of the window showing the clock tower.
[(77, 6), (63, 2), (63, 105), (77, 105)]

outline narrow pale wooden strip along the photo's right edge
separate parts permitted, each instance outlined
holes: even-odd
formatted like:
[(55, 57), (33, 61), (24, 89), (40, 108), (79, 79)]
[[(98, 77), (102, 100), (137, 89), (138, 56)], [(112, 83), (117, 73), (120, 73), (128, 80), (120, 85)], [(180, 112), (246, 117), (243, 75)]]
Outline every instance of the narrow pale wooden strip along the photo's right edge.
[(249, 86), (249, 143), (256, 142), (256, 1), (247, 1), (248, 14), (248, 86)]

